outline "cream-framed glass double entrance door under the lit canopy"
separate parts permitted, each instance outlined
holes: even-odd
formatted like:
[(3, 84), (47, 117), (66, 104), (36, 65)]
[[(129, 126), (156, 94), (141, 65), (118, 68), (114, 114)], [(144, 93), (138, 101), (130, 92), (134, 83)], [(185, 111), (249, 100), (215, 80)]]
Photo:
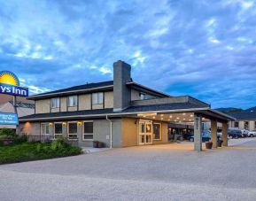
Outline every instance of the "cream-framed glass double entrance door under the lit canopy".
[(152, 121), (139, 120), (139, 145), (152, 144)]

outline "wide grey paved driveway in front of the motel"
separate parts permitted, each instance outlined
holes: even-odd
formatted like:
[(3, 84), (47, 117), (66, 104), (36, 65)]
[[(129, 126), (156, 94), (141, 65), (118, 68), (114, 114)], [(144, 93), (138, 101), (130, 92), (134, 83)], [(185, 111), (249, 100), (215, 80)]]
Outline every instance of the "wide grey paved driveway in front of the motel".
[(4, 165), (0, 200), (254, 200), (256, 139), (232, 142), (202, 152), (165, 144)]

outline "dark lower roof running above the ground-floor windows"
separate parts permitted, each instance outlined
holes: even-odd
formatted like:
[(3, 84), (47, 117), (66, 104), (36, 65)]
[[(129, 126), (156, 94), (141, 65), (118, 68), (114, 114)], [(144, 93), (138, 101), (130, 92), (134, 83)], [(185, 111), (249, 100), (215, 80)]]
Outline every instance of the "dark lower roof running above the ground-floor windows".
[[(87, 111), (76, 111), (76, 112), (52, 112), (52, 113), (38, 113), (32, 114), (25, 117), (20, 118), (19, 120), (44, 120), (47, 118), (53, 119), (82, 119), (83, 116), (88, 116), (88, 118), (92, 117), (100, 117), (106, 114), (108, 115), (126, 115), (131, 112), (165, 112), (172, 110), (182, 110), (182, 109), (197, 109), (197, 108), (206, 108), (205, 104), (191, 104), (191, 103), (173, 103), (173, 104), (151, 104), (151, 105), (138, 105), (138, 106), (130, 106), (127, 109), (121, 112), (113, 112), (111, 109), (100, 109), (100, 110), (87, 110)], [(89, 117), (90, 116), (90, 117)]]

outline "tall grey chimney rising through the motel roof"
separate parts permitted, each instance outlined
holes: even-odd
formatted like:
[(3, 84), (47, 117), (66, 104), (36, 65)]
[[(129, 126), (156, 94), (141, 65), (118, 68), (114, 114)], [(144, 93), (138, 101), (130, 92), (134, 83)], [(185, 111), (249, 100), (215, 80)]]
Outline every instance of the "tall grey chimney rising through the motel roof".
[(126, 85), (131, 81), (131, 66), (123, 61), (113, 63), (113, 111), (126, 109), (131, 101), (131, 89)]

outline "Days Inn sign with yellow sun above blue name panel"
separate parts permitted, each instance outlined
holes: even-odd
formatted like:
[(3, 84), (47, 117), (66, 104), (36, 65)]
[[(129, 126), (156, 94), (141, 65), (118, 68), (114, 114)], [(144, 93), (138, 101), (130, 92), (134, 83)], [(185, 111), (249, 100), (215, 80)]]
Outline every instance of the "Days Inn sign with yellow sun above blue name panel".
[(0, 72), (0, 94), (28, 97), (28, 88), (19, 87), (18, 77), (10, 71)]

